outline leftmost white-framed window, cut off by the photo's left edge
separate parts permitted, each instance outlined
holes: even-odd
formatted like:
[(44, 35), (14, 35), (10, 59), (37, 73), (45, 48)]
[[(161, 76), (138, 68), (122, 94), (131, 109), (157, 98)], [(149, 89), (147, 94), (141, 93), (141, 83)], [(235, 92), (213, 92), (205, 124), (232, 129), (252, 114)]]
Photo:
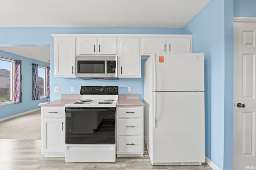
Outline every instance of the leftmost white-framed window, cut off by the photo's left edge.
[(13, 102), (14, 60), (0, 57), (0, 104)]

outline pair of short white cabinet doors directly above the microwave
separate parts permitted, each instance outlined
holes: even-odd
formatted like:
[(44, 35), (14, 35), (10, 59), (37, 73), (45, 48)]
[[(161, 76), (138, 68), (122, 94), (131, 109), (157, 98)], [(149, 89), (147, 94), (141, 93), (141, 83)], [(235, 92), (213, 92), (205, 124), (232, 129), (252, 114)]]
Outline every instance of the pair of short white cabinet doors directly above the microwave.
[(116, 38), (78, 37), (77, 55), (116, 55)]

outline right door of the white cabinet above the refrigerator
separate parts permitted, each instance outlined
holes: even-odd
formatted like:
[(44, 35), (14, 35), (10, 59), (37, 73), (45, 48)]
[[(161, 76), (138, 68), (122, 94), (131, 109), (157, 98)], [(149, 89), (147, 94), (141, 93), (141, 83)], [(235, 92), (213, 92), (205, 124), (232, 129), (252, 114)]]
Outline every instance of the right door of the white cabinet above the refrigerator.
[(168, 38), (167, 53), (191, 53), (190, 38)]

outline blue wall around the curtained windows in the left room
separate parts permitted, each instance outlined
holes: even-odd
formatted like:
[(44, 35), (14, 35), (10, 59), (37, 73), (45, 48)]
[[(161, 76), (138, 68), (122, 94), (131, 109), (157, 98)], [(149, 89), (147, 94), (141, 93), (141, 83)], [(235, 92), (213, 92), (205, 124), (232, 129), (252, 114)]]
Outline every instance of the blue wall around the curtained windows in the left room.
[(40, 66), (50, 66), (50, 64), (27, 57), (22, 57), (20, 55), (7, 53), (5, 51), (0, 51), (0, 56), (8, 59), (17, 59), (22, 61), (22, 103), (0, 106), (0, 119), (25, 111), (37, 109), (39, 103), (48, 101), (48, 98), (32, 100), (32, 63), (39, 64)]

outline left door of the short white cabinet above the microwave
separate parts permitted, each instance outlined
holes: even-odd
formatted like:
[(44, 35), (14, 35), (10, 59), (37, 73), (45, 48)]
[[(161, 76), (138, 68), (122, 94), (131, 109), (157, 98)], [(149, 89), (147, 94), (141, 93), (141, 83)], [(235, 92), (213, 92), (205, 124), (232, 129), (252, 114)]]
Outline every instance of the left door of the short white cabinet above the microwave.
[(95, 54), (97, 54), (97, 38), (78, 37), (76, 54), (77, 55), (95, 55)]

